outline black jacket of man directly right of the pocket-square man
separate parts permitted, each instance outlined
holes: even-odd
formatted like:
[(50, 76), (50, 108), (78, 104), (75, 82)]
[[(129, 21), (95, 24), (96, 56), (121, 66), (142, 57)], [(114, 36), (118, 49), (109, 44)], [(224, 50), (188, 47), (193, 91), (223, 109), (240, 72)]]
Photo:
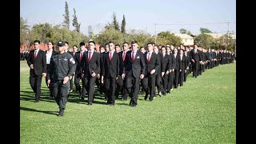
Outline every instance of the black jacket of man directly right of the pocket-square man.
[(154, 74), (152, 75), (157, 75), (158, 74), (158, 69), (160, 69), (160, 60), (159, 60), (159, 56), (158, 54), (155, 54), (154, 52), (152, 52), (151, 56), (150, 56), (150, 62), (147, 62), (147, 58), (146, 55), (148, 54), (148, 52), (146, 52), (144, 54), (144, 59), (145, 59), (145, 66), (146, 66), (146, 70), (145, 70), (145, 75), (151, 75), (150, 71), (151, 70), (155, 70)]

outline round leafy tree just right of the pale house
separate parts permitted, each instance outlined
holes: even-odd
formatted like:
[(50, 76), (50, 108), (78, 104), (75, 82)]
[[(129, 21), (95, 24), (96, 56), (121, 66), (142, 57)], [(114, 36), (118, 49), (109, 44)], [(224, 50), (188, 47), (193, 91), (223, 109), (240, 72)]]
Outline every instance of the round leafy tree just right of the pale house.
[(194, 43), (204, 49), (209, 49), (214, 43), (214, 38), (209, 34), (199, 34), (197, 37), (194, 38)]

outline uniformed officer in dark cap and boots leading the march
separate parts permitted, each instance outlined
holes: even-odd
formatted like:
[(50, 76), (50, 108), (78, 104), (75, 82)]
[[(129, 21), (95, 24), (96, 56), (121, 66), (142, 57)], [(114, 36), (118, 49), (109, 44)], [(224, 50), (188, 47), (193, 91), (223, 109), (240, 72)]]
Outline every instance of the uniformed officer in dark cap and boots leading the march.
[(48, 85), (59, 106), (59, 116), (63, 116), (66, 108), (67, 96), (70, 90), (70, 76), (74, 74), (74, 58), (64, 51), (65, 42), (57, 43), (58, 53), (50, 58), (47, 70)]

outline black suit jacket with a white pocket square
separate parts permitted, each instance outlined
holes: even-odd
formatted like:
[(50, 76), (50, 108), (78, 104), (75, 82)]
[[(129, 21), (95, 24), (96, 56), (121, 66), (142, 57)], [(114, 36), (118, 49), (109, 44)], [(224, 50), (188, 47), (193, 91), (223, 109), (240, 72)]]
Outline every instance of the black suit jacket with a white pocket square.
[(143, 54), (140, 50), (137, 50), (137, 53), (134, 57), (134, 61), (131, 60), (132, 50), (126, 53), (126, 59), (122, 66), (122, 74), (126, 76), (133, 76), (134, 78), (139, 78), (140, 74), (145, 75), (145, 60)]

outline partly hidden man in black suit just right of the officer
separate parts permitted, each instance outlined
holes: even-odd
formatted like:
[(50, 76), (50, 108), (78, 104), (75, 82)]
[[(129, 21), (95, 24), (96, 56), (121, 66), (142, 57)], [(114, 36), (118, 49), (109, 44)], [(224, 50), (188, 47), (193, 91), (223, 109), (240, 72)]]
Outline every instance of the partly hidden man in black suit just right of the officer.
[(76, 52), (74, 54), (74, 61), (75, 61), (75, 76), (74, 76), (74, 85), (75, 90), (78, 91), (79, 98), (84, 98), (86, 95), (85, 86), (80, 86), (80, 79), (82, 79), (82, 84), (84, 83), (84, 78), (82, 78), (81, 73), (81, 66), (82, 66), (82, 58), (84, 58), (84, 55), (86, 54), (86, 43), (80, 42), (80, 51)]

